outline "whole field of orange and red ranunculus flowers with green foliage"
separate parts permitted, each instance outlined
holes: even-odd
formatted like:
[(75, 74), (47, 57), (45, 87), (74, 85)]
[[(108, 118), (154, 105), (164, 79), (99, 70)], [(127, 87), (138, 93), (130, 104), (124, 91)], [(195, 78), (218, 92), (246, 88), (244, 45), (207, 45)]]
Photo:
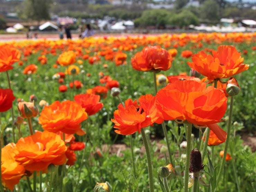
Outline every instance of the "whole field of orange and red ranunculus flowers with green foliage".
[(0, 42), (1, 191), (255, 191), (256, 33)]

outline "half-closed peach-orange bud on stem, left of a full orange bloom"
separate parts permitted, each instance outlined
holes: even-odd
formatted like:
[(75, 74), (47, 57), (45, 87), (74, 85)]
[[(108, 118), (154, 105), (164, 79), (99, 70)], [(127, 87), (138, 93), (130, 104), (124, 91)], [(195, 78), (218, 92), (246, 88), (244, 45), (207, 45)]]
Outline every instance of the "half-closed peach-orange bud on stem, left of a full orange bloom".
[(35, 105), (35, 101), (33, 102), (19, 102), (18, 110), (23, 118), (31, 118), (36, 117), (38, 115), (38, 108)]

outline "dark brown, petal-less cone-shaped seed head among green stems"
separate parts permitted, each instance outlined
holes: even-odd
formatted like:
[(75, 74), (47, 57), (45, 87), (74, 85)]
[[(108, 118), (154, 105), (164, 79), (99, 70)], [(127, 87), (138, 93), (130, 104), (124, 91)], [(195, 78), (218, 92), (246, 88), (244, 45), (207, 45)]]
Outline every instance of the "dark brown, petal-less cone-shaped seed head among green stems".
[(200, 172), (203, 169), (201, 153), (198, 149), (193, 149), (190, 153), (189, 172)]

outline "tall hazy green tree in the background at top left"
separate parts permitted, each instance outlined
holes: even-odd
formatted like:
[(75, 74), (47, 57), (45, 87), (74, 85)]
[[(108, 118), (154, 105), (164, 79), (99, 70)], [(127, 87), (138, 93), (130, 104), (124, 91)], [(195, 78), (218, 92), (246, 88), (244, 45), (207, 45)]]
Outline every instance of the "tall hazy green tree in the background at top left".
[(35, 20), (38, 22), (50, 19), (49, 10), (52, 0), (25, 0), (20, 17), (26, 20)]

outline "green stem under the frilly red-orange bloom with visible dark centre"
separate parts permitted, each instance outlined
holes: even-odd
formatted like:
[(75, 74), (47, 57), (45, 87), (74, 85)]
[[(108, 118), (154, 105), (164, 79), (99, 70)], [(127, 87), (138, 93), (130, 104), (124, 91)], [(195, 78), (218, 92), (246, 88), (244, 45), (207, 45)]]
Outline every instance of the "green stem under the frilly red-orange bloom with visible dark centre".
[(147, 136), (145, 134), (144, 128), (141, 129), (141, 136), (143, 139), (143, 143), (146, 150), (146, 156), (147, 156), (147, 164), (148, 164), (148, 177), (149, 177), (149, 191), (154, 192), (154, 180), (153, 180), (153, 168), (152, 168), (152, 161), (150, 157), (150, 151), (148, 146), (148, 140)]

